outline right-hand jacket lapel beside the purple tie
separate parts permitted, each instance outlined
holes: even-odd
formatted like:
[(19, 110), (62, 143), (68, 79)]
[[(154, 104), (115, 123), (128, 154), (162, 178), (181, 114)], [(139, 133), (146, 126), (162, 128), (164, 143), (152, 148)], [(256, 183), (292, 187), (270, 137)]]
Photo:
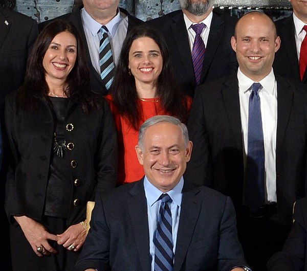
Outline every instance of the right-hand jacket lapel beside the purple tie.
[(218, 44), (220, 44), (224, 28), (225, 28), (224, 21), (220, 17), (218, 17), (215, 13), (213, 13), (205, 57), (204, 57), (201, 82), (208, 73), (211, 62), (215, 56)]

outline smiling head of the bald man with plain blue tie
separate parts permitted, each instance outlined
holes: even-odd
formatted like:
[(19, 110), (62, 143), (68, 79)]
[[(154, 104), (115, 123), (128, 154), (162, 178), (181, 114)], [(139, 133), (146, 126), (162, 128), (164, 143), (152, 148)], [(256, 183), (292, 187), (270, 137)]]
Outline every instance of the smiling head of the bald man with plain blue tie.
[(238, 21), (235, 34), (231, 46), (240, 70), (250, 79), (260, 81), (271, 72), (280, 46), (273, 21), (260, 12), (248, 13)]

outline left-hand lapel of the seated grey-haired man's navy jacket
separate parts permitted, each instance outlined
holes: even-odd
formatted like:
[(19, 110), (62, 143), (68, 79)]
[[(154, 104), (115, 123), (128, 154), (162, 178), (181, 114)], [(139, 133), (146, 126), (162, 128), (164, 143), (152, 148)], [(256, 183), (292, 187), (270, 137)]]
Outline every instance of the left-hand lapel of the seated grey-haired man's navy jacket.
[(151, 269), (149, 254), (149, 228), (147, 204), (144, 192), (143, 179), (129, 191), (131, 199), (128, 201), (128, 210), (131, 218), (131, 227), (135, 237), (139, 260), (142, 270)]

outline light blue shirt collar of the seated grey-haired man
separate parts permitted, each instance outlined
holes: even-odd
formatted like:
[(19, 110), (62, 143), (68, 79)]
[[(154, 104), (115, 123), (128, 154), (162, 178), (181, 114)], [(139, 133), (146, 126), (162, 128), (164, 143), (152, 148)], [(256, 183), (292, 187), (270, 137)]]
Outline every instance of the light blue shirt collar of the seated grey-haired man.
[[(181, 177), (179, 183), (172, 190), (167, 192), (172, 201), (175, 204), (177, 204), (179, 207), (181, 206), (183, 183), (184, 180), (183, 177)], [(146, 175), (144, 177), (144, 190), (149, 206), (152, 206), (158, 200), (158, 198), (163, 194), (161, 190), (159, 190), (157, 187), (153, 186), (149, 182)]]

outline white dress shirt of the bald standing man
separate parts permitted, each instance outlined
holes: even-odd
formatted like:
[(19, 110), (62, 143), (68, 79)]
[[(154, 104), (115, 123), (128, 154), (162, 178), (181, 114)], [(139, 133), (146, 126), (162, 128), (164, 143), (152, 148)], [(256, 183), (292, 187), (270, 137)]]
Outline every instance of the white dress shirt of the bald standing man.
[[(248, 108), (253, 80), (245, 76), (240, 69), (237, 73), (239, 84), (239, 100), (241, 125), (244, 145), (244, 168), (247, 160), (248, 143)], [(266, 202), (277, 202), (276, 198), (276, 132), (277, 132), (277, 84), (273, 69), (264, 79), (259, 81), (260, 109), (265, 147), (265, 184)]]

